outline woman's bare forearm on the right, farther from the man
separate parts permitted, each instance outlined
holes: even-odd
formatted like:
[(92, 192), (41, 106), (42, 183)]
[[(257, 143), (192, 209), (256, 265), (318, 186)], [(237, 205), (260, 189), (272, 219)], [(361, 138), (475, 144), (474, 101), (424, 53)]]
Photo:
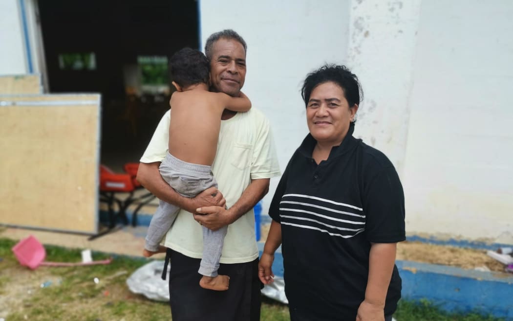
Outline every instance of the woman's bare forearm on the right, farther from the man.
[(397, 243), (371, 243), (365, 300), (357, 321), (384, 320), (385, 299), (396, 262)]

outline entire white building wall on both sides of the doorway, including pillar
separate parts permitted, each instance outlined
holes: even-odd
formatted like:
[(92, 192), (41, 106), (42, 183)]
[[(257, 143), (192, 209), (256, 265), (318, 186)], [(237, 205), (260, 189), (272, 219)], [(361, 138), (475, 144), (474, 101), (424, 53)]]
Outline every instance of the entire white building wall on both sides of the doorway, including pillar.
[[(202, 44), (225, 28), (246, 39), (244, 91), (271, 122), (282, 171), (307, 134), (305, 75), (344, 63), (364, 90), (356, 136), (396, 165), (408, 234), (513, 244), (513, 2), (202, 0), (200, 12)], [(0, 1), (0, 44), (0, 74), (27, 72), (17, 0)]]

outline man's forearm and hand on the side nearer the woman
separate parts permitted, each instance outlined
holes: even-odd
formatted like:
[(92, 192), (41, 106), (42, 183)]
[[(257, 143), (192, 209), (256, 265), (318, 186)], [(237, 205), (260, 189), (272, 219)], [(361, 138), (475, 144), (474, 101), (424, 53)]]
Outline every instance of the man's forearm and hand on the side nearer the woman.
[(222, 206), (203, 206), (197, 208), (194, 219), (212, 231), (219, 230), (238, 220), (269, 192), (269, 178), (254, 179), (244, 190), (239, 200), (229, 209)]

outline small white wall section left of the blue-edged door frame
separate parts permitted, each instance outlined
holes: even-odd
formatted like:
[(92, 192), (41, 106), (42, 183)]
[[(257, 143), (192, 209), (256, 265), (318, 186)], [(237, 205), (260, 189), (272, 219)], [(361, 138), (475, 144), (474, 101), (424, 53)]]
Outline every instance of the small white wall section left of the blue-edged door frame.
[(0, 1), (0, 75), (27, 72), (25, 45), (17, 0)]

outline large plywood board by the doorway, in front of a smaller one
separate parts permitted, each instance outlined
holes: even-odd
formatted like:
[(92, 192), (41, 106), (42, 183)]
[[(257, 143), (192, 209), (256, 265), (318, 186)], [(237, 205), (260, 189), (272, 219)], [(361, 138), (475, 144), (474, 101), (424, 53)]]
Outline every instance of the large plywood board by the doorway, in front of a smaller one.
[(0, 223), (98, 230), (100, 95), (0, 96)]

